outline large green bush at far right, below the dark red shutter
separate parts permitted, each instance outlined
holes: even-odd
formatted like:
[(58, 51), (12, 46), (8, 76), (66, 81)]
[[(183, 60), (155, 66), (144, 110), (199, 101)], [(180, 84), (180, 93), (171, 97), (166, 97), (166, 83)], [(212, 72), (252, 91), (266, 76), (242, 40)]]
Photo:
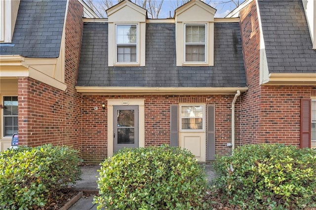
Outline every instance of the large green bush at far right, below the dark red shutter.
[(217, 158), (214, 184), (243, 209), (301, 209), (316, 201), (316, 151), (283, 144), (244, 145)]

